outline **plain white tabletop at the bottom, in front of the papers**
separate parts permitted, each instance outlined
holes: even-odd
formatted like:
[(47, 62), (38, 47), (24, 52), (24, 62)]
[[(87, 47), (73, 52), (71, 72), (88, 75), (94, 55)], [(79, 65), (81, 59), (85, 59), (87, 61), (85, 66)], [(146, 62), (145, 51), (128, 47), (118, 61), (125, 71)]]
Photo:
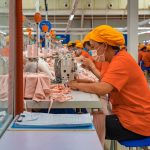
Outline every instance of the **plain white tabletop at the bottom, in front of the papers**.
[(95, 131), (6, 131), (3, 150), (103, 150)]

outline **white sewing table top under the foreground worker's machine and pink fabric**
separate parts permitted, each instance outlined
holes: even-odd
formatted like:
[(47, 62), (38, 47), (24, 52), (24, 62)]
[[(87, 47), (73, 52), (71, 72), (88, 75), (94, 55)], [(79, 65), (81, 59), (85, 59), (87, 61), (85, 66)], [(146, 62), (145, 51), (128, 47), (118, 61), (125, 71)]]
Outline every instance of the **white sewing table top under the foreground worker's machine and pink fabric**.
[[(102, 108), (100, 98), (96, 94), (72, 91), (71, 95), (73, 99), (63, 103), (53, 102), (52, 108)], [(27, 108), (48, 108), (49, 104), (50, 101), (26, 100)]]

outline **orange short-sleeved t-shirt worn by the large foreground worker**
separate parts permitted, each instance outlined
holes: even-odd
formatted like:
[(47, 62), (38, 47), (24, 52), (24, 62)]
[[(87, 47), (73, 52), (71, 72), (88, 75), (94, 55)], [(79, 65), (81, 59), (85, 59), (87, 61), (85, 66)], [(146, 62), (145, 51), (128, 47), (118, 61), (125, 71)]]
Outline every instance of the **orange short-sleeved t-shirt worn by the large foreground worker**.
[(103, 82), (115, 89), (110, 93), (112, 111), (126, 129), (150, 136), (150, 89), (138, 64), (120, 51), (109, 64)]

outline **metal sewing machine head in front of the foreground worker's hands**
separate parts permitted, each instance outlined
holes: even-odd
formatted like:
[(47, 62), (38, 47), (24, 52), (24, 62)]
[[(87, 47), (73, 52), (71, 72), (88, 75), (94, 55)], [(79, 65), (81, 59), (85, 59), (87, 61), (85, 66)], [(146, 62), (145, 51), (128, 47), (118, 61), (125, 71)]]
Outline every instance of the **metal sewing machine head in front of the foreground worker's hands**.
[(71, 53), (58, 54), (55, 58), (54, 68), (57, 83), (74, 80), (77, 66)]

